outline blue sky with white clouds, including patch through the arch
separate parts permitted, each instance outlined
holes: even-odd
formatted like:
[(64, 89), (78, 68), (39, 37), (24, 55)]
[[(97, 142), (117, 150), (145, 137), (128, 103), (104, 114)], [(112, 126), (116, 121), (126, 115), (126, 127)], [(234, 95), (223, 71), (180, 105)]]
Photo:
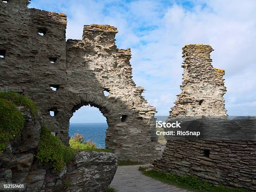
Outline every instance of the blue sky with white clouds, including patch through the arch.
[[(133, 80), (157, 115), (168, 115), (180, 93), (182, 47), (210, 44), (213, 66), (226, 71), (228, 115), (256, 115), (255, 0), (32, 0), (29, 8), (65, 13), (67, 39), (81, 39), (84, 24), (116, 26), (116, 44), (131, 48)], [(85, 121), (105, 118), (83, 107), (71, 119)]]

